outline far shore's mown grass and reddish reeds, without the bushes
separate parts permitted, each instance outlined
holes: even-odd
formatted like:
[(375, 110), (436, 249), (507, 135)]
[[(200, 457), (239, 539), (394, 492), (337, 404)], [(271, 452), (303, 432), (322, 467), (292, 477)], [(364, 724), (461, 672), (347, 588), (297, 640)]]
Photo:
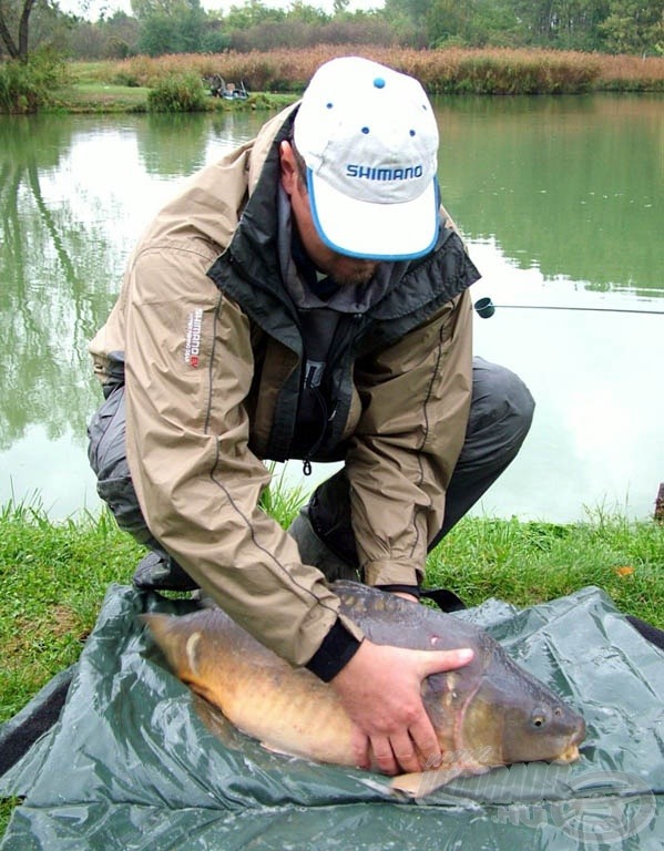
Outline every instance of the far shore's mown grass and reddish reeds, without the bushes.
[[(200, 80), (203, 109), (278, 110), (304, 90), (316, 68), (334, 55), (361, 54), (417, 76), (430, 94), (586, 94), (664, 92), (664, 58), (641, 59), (553, 50), (397, 50), (319, 45), (266, 53), (172, 54), (68, 63), (67, 85), (50, 112), (146, 112), (151, 88), (174, 75)], [(213, 75), (246, 85), (246, 100), (214, 96)]]

